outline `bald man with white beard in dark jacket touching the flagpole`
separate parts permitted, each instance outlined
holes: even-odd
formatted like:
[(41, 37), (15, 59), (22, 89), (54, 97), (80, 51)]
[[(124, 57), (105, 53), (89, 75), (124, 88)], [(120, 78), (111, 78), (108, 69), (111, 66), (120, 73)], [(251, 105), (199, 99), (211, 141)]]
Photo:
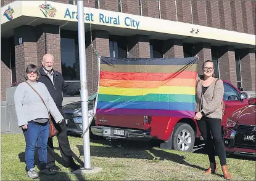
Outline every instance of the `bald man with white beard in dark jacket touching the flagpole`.
[[(68, 85), (60, 72), (57, 72), (53, 69), (54, 66), (54, 56), (47, 53), (43, 56), (42, 60), (43, 66), (39, 68), (39, 82), (44, 83), (46, 85), (47, 89), (49, 90), (49, 93), (52, 96), (52, 99), (54, 99), (54, 102), (56, 103), (56, 106), (60, 110), (60, 113), (64, 115), (64, 111), (62, 109), (62, 101), (63, 101), (63, 95), (68, 94), (70, 96), (80, 94), (80, 89), (76, 87), (71, 87)], [(64, 166), (67, 168), (72, 169), (72, 171), (76, 169), (80, 169), (80, 166), (75, 163), (75, 161), (72, 158), (72, 150), (70, 148), (70, 144), (68, 142), (68, 136), (67, 136), (67, 129), (66, 129), (66, 123), (65, 121), (62, 121), (59, 125), (55, 123), (55, 121), (52, 121), (54, 123), (54, 126), (59, 131), (59, 134), (57, 134), (57, 139), (59, 142), (59, 148), (60, 153), (62, 155), (62, 159), (64, 160)], [(56, 166), (55, 164), (55, 156), (54, 156), (54, 148), (53, 148), (53, 142), (52, 138), (49, 137), (48, 139), (48, 147), (47, 147), (47, 165), (49, 166), (49, 169), (52, 171), (60, 171), (61, 169)]]

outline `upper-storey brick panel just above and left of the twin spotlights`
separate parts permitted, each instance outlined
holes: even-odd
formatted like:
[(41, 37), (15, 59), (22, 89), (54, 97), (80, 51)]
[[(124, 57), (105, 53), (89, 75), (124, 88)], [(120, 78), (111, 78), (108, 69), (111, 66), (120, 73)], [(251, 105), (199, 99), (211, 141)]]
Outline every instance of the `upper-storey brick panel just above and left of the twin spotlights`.
[(192, 23), (191, 1), (176, 1), (178, 21)]

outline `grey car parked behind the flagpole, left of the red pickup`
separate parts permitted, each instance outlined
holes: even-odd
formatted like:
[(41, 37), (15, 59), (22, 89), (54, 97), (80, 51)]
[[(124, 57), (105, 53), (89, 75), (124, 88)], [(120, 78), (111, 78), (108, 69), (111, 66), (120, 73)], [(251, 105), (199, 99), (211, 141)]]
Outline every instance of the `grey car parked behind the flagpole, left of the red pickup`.
[[(93, 109), (96, 101), (97, 93), (94, 93), (92, 96), (88, 98), (88, 116), (89, 118), (93, 117)], [(70, 104), (66, 104), (63, 106), (63, 110), (65, 113), (65, 121), (67, 126), (67, 133), (73, 135), (81, 135), (83, 134), (83, 120), (82, 120), (82, 112), (81, 112), (81, 101), (72, 102)], [(95, 121), (92, 121), (91, 126), (94, 125)], [(91, 129), (90, 129), (91, 131)]]

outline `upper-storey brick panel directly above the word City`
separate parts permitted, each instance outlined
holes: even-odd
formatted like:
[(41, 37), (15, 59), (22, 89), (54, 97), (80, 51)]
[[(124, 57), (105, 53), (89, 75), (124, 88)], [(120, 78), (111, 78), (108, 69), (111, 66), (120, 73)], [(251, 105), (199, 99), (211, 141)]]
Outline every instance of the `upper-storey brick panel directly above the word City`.
[(124, 13), (139, 15), (139, 1), (122, 0), (122, 10)]

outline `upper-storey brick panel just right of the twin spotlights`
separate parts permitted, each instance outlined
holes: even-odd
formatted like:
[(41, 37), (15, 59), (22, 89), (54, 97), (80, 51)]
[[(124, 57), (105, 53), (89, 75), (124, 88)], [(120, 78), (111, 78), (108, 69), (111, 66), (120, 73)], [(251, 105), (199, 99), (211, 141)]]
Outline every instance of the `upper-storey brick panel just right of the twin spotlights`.
[(207, 26), (220, 28), (220, 9), (217, 0), (205, 1)]

